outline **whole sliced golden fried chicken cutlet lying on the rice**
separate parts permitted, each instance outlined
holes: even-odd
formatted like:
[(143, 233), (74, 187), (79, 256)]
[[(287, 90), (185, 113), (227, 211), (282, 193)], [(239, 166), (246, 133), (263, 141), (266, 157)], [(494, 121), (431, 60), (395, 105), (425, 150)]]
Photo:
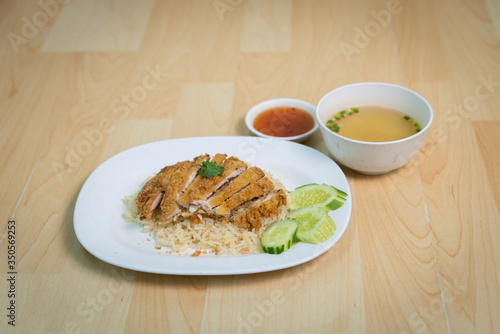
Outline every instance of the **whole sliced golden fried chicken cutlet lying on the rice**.
[[(204, 161), (221, 166), (220, 174), (203, 176)], [(286, 205), (286, 191), (262, 169), (226, 154), (204, 154), (166, 166), (136, 197), (140, 219), (157, 219), (160, 226), (208, 217), (258, 230), (263, 219), (275, 218)]]

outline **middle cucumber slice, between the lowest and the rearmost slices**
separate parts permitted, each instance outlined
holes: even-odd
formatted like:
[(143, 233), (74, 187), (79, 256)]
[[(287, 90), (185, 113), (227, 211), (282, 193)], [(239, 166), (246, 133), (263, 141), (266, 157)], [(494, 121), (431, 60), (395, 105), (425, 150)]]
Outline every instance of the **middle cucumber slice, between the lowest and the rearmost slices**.
[(317, 206), (292, 210), (288, 217), (297, 221), (297, 239), (302, 242), (316, 245), (330, 239), (337, 229), (328, 211)]

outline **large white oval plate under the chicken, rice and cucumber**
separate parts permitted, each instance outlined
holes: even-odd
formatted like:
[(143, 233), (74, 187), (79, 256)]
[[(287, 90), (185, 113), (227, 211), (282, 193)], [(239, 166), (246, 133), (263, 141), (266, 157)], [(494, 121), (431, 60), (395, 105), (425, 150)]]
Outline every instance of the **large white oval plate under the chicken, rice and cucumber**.
[[(349, 196), (330, 216), (337, 225), (332, 238), (319, 245), (296, 243), (280, 255), (168, 254), (155, 249), (154, 238), (136, 223), (125, 222), (122, 199), (140, 189), (162, 167), (197, 155), (226, 153), (269, 171), (288, 190), (309, 183), (333, 185)], [(351, 216), (347, 179), (332, 159), (308, 146), (258, 137), (198, 137), (153, 142), (106, 160), (87, 178), (75, 205), (75, 233), (92, 255), (107, 263), (150, 273), (172, 275), (236, 275), (278, 270), (310, 261), (342, 236)]]

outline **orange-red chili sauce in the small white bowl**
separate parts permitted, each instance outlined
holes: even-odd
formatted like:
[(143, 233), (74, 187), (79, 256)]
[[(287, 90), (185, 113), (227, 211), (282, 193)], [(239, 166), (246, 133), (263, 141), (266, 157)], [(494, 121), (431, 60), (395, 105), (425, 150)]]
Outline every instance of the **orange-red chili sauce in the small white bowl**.
[(253, 122), (255, 130), (274, 137), (293, 137), (314, 127), (311, 114), (293, 107), (276, 107), (263, 111)]

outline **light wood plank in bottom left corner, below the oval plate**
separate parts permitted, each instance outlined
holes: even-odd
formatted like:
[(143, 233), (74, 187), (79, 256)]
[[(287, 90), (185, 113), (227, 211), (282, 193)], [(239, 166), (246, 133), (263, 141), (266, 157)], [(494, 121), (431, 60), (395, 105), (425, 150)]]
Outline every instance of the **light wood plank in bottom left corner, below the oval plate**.
[[(20, 274), (16, 288), (24, 293), (16, 296), (15, 329), (43, 333), (78, 330), (123, 333), (135, 276), (134, 272), (99, 264), (94, 270), (79, 272), (79, 275)], [(2, 292), (8, 290), (4, 281), (2, 279)], [(56, 309), (49, 311), (47, 306), (42, 306), (48, 303), (57, 305)], [(1, 327), (10, 326), (3, 322)]]

